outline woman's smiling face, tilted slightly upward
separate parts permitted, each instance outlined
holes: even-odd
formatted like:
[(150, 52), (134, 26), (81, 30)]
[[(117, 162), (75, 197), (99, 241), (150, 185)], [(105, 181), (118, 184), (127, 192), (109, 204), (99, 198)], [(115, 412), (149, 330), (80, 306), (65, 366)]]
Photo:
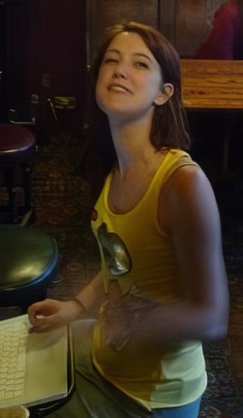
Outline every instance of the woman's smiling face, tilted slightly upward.
[(162, 88), (162, 70), (141, 36), (122, 32), (113, 38), (97, 78), (100, 109), (119, 121), (152, 118)]

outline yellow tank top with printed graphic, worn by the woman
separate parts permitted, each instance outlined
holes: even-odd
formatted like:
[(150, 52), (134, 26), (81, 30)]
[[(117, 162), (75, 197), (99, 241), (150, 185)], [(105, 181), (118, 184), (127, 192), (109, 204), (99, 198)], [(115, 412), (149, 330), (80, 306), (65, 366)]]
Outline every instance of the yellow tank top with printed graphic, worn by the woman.
[[(182, 150), (168, 150), (150, 187), (136, 207), (123, 215), (109, 209), (112, 173), (95, 205), (91, 221), (100, 246), (104, 287), (117, 280), (123, 295), (130, 293), (161, 304), (180, 300), (171, 239), (157, 222), (159, 192), (173, 171), (196, 165)], [(105, 343), (97, 321), (93, 362), (104, 378), (145, 408), (169, 408), (195, 401), (207, 385), (200, 341), (186, 341), (163, 357), (150, 353), (116, 352)]]

